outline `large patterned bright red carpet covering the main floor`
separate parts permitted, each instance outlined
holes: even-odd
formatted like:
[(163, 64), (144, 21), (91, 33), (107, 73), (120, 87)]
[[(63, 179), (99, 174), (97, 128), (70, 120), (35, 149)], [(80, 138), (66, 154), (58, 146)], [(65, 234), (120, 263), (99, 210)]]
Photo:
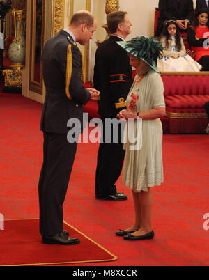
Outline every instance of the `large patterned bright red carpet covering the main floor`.
[[(0, 94), (0, 213), (5, 219), (38, 218), (41, 110), (41, 104), (21, 95)], [(203, 228), (203, 215), (209, 213), (209, 135), (164, 134), (163, 145), (164, 184), (153, 188), (155, 239), (128, 242), (114, 233), (132, 225), (130, 190), (119, 178), (118, 190), (128, 201), (95, 200), (98, 143), (79, 143), (64, 219), (118, 257), (85, 266), (209, 265), (209, 231)]]

